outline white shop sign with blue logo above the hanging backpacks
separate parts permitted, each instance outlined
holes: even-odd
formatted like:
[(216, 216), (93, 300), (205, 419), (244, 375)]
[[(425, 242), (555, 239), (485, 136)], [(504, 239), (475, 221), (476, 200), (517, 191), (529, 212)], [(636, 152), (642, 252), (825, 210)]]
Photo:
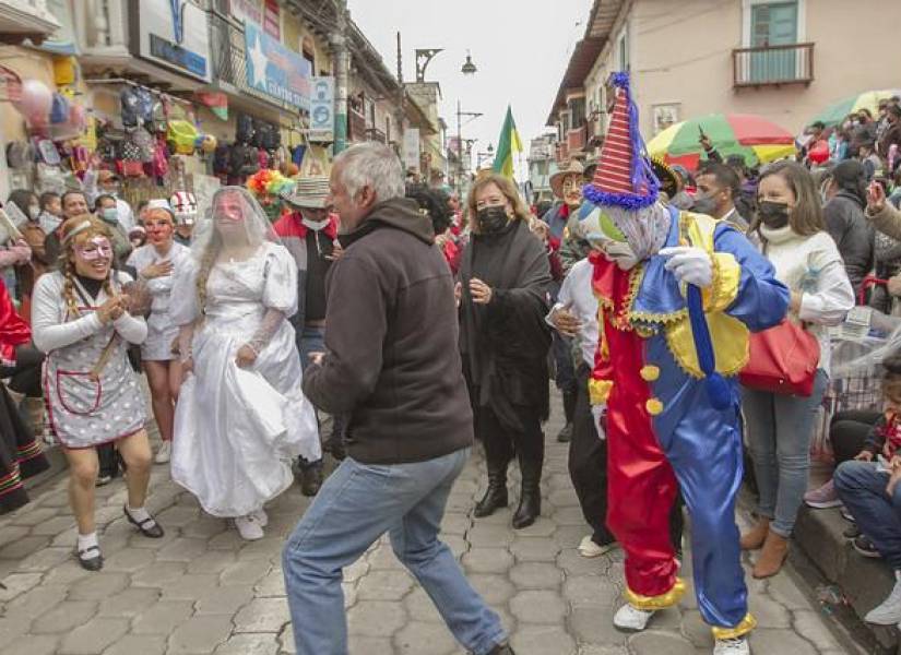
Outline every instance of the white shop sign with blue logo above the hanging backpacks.
[(210, 81), (208, 15), (188, 0), (141, 0), (139, 55), (179, 73)]

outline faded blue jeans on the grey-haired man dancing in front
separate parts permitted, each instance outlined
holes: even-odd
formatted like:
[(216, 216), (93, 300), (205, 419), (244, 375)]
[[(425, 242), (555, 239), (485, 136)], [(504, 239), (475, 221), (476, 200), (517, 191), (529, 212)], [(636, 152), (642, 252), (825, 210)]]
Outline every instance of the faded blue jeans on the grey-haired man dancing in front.
[(346, 655), (342, 569), (389, 531), (394, 555), (423, 585), (464, 647), (484, 655), (507, 639), (438, 539), (444, 505), (470, 449), (412, 464), (351, 457), (325, 480), (282, 552), (298, 655)]

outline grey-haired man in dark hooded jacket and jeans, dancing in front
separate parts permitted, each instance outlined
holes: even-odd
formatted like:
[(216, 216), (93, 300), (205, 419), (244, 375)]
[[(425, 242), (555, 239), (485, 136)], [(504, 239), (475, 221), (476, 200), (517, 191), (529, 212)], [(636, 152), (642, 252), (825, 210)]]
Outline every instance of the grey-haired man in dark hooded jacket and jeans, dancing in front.
[(438, 539), (473, 442), (450, 269), (431, 222), (403, 198), (391, 148), (345, 151), (330, 186), (344, 254), (327, 282), (325, 353), (313, 357), (304, 392), (348, 416), (349, 456), (283, 552), (297, 653), (347, 653), (342, 569), (389, 531), (457, 640), (478, 655), (511, 655), (498, 616)]

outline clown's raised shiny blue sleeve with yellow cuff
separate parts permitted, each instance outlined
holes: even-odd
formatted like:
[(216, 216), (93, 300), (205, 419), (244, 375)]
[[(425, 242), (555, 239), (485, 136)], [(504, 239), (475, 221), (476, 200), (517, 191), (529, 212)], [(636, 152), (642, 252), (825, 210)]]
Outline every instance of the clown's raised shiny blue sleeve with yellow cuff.
[(727, 225), (716, 227), (713, 246), (714, 300), (751, 332), (778, 325), (789, 311), (790, 294), (770, 261)]

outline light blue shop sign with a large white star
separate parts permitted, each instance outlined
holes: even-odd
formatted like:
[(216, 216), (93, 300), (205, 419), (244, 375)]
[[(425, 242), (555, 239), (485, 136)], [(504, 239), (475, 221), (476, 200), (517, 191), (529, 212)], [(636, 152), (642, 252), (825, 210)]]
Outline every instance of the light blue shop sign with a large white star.
[(312, 64), (250, 22), (244, 26), (247, 83), (251, 88), (309, 111)]

